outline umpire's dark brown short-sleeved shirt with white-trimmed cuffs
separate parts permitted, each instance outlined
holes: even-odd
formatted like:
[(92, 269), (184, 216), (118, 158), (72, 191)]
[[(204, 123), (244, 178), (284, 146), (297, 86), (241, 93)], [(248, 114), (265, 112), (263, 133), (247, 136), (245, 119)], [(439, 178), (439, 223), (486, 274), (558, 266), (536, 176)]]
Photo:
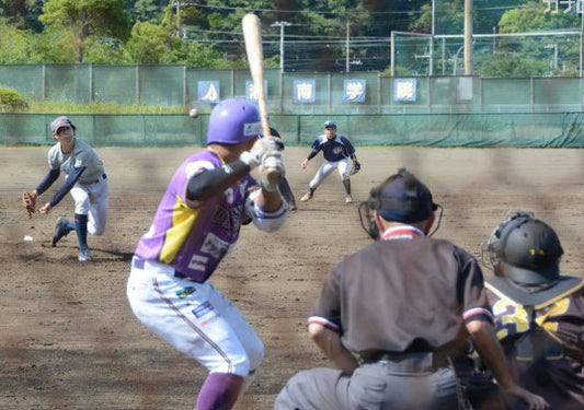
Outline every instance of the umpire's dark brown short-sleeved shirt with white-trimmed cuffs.
[(478, 261), (402, 225), (333, 269), (309, 323), (337, 331), (358, 353), (463, 344), (465, 320), (473, 319), (492, 320)]

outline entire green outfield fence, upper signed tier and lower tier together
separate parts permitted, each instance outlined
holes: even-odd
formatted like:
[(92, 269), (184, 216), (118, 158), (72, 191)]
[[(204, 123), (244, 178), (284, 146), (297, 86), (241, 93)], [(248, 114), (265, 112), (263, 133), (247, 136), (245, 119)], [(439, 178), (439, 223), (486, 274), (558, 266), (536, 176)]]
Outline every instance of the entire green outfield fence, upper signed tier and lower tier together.
[[(0, 113), (0, 143), (53, 143), (69, 115), (100, 145), (203, 144), (218, 101), (250, 94), (249, 70), (173, 66), (5, 65), (0, 85), (28, 99), (197, 107), (202, 115)], [(265, 70), (267, 108), (285, 142), (306, 145), (334, 119), (357, 145), (583, 147), (583, 78), (483, 79)], [(213, 84), (213, 89), (209, 89)], [(210, 91), (213, 92), (210, 92)]]

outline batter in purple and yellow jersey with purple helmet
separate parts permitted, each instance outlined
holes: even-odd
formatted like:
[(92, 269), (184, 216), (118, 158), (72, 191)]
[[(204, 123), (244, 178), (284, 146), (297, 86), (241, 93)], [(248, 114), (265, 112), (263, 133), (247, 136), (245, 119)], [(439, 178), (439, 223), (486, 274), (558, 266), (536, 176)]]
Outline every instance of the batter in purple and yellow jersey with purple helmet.
[[(285, 175), (278, 139), (257, 139), (260, 113), (226, 99), (209, 117), (207, 148), (172, 176), (131, 262), (127, 296), (138, 319), (208, 371), (197, 410), (231, 409), (251, 383), (264, 347), (209, 278), (240, 227), (279, 229), (286, 207), (267, 169)], [(250, 175), (257, 167), (260, 184)]]

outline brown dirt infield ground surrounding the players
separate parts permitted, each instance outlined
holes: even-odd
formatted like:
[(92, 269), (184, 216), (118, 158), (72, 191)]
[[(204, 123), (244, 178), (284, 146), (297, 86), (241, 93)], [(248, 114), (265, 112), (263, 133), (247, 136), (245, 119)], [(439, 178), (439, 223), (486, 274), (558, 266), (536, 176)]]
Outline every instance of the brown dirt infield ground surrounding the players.
[[(48, 216), (28, 220), (21, 207), (22, 190), (46, 172), (46, 150), (0, 148), (0, 408), (191, 409), (205, 372), (142, 327), (125, 284), (136, 243), (192, 149), (98, 150), (110, 176), (110, 219), (104, 236), (89, 238), (94, 260), (88, 263), (77, 260), (75, 233), (50, 246), (57, 216), (72, 214), (69, 196)], [(320, 163), (301, 171), (307, 153), (287, 148), (284, 155), (297, 199)], [(479, 244), (506, 211), (533, 210), (558, 231), (563, 271), (584, 276), (583, 150), (363, 148), (357, 154), (355, 200), (406, 166), (444, 207), (436, 237), (480, 257)], [(277, 233), (243, 227), (211, 279), (266, 347), (239, 409), (271, 409), (295, 372), (328, 364), (308, 338), (307, 315), (330, 269), (369, 242), (337, 175), (298, 206)], [(23, 242), (25, 235), (33, 242)]]

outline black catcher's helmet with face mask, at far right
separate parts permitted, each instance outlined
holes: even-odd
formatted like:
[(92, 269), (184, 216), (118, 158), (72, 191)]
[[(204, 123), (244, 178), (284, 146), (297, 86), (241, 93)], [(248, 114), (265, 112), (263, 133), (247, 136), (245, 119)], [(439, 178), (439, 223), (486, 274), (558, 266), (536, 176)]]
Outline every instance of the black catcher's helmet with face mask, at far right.
[[(481, 244), (483, 265), (497, 277), (517, 283), (548, 283), (560, 276), (563, 254), (556, 232), (531, 212), (517, 211), (507, 215)], [(491, 266), (485, 263), (489, 255)]]

